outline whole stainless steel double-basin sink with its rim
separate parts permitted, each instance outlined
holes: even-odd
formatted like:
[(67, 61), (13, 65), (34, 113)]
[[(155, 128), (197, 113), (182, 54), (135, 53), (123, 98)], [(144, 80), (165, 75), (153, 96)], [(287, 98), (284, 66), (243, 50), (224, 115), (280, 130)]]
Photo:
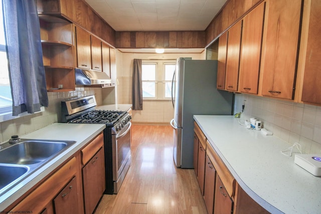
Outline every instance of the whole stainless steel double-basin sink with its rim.
[(0, 149), (0, 196), (68, 149), (75, 141), (20, 139)]

